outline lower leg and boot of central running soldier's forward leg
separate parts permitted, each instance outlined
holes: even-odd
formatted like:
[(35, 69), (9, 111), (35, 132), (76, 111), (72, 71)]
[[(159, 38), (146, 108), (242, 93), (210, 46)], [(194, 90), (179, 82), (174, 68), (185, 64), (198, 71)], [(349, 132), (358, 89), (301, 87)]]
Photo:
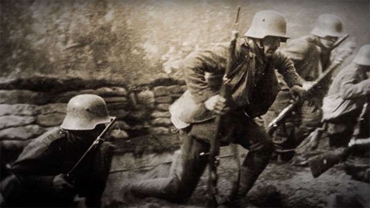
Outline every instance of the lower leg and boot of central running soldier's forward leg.
[[(248, 156), (247, 156), (248, 157)], [(250, 206), (246, 195), (251, 190), (258, 176), (264, 171), (270, 157), (255, 156), (252, 161), (246, 161), (246, 166), (241, 167), (241, 178), (239, 184), (234, 183), (231, 194), (226, 198), (224, 204), (229, 207)]]

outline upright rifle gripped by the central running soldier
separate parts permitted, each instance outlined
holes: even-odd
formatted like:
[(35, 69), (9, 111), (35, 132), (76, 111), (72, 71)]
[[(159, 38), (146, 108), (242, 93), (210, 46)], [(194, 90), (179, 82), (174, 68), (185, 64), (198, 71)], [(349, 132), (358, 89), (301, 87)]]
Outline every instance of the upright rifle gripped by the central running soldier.
[[(223, 82), (220, 88), (220, 96), (228, 97), (230, 96), (230, 71), (235, 61), (235, 46), (236, 46), (236, 39), (238, 37), (237, 25), (239, 19), (241, 7), (238, 7), (237, 14), (236, 14), (236, 21), (234, 25), (234, 29), (232, 30), (232, 36), (230, 41), (229, 47), (229, 57), (226, 62), (226, 69), (225, 74), (223, 77)], [(209, 169), (208, 169), (208, 186), (207, 186), (207, 195), (208, 195), (208, 207), (215, 207), (220, 202), (220, 198), (218, 196), (217, 190), (217, 166), (218, 166), (218, 154), (219, 154), (219, 147), (220, 147), (220, 135), (219, 129), (221, 126), (221, 116), (217, 115), (214, 121), (215, 124), (215, 131), (212, 137), (210, 138), (210, 152), (209, 152)]]

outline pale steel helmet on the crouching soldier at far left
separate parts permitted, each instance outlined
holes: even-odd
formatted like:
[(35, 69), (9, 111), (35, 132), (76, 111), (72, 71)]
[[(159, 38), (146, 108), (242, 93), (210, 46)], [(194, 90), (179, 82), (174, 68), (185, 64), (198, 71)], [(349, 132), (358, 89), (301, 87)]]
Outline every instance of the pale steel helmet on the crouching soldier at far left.
[(61, 125), (67, 130), (91, 130), (98, 124), (110, 122), (106, 104), (95, 94), (80, 94), (67, 104), (67, 115)]

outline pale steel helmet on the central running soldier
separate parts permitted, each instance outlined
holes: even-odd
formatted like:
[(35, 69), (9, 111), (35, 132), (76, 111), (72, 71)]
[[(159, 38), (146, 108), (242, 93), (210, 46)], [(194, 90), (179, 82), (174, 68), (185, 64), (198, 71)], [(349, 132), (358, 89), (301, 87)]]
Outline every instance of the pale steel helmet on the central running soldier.
[(257, 12), (253, 17), (250, 28), (244, 35), (256, 39), (263, 39), (268, 35), (289, 38), (286, 36), (285, 17), (272, 10)]

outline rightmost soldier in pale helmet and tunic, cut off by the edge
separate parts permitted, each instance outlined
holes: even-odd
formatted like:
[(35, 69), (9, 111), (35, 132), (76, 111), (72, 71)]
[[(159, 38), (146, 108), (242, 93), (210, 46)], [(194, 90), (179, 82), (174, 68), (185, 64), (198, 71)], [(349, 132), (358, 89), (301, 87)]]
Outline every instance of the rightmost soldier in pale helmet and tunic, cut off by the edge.
[[(369, 75), (370, 45), (364, 45), (353, 63), (338, 73), (323, 100), (323, 122), (327, 126), (330, 146), (347, 145), (353, 135), (362, 106), (370, 95)], [(364, 126), (368, 133), (368, 125)]]

